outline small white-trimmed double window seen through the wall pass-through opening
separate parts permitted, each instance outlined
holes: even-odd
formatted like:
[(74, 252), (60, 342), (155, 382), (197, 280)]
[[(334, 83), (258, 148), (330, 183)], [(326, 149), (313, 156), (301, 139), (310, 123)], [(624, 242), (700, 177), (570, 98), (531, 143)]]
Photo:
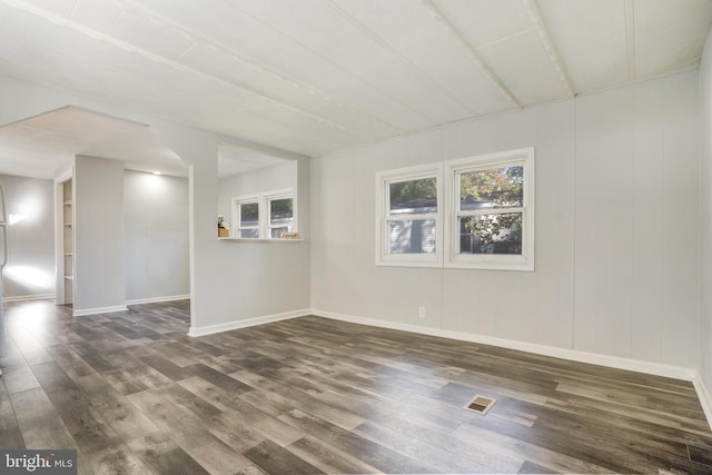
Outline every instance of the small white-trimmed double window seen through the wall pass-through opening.
[(233, 198), (235, 237), (241, 239), (279, 239), (297, 230), (295, 198), (291, 189), (267, 191)]

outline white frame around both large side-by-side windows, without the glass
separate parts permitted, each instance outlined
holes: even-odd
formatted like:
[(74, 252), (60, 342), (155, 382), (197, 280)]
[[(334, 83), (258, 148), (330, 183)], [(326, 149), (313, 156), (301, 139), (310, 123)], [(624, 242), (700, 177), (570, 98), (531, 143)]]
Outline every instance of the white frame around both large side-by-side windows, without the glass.
[[(524, 167), (524, 204), (522, 207), (498, 208), (479, 214), (522, 212), (522, 254), (459, 254), (459, 175), (503, 166)], [(528, 147), (377, 172), (376, 265), (533, 271), (536, 199), (534, 170), (534, 147)], [(389, 254), (388, 224), (390, 220), (397, 219), (389, 215), (389, 185), (432, 177), (435, 177), (437, 182), (437, 212), (408, 215), (407, 218), (413, 219), (414, 216), (417, 216), (418, 218), (435, 219), (435, 254)], [(462, 215), (476, 214), (478, 212), (467, 211)]]

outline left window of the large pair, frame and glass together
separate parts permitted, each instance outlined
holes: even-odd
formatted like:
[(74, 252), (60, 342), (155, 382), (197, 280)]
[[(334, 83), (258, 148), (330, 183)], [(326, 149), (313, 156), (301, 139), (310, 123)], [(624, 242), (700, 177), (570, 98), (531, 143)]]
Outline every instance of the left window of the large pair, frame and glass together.
[(439, 266), (442, 260), (441, 167), (378, 174), (378, 265)]

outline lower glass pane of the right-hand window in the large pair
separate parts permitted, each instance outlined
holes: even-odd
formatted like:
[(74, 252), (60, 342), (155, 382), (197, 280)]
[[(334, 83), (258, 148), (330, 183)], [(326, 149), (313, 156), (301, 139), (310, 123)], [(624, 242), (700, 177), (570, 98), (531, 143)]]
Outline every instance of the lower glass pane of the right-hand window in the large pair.
[(522, 214), (459, 218), (459, 254), (522, 254)]

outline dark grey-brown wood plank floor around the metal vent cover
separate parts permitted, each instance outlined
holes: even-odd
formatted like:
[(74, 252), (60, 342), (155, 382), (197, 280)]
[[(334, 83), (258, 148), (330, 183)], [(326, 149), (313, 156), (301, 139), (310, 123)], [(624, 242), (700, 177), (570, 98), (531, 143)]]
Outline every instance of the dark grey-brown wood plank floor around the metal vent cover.
[(7, 304), (0, 447), (86, 474), (712, 473), (689, 383), (317, 317), (190, 338), (188, 315)]

